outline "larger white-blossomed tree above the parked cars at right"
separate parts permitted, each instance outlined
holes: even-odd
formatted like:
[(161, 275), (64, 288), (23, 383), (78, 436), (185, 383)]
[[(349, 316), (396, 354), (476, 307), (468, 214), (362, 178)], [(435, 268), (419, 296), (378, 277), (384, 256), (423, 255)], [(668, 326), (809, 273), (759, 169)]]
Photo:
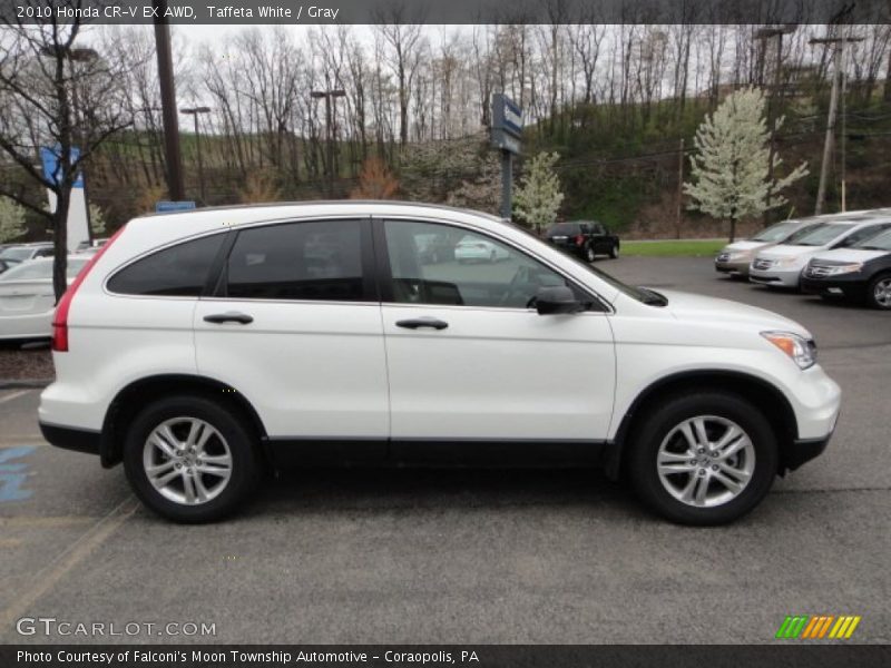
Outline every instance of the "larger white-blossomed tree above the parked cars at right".
[[(776, 129), (782, 125), (780, 117)], [(731, 94), (696, 130), (693, 180), (684, 184), (684, 191), (693, 199), (691, 209), (730, 220), (731, 242), (737, 220), (786, 204), (780, 191), (807, 174), (802, 163), (785, 177), (771, 177), (783, 160), (774, 153), (774, 170), (770, 168), (768, 139), (764, 95), (756, 88)]]

